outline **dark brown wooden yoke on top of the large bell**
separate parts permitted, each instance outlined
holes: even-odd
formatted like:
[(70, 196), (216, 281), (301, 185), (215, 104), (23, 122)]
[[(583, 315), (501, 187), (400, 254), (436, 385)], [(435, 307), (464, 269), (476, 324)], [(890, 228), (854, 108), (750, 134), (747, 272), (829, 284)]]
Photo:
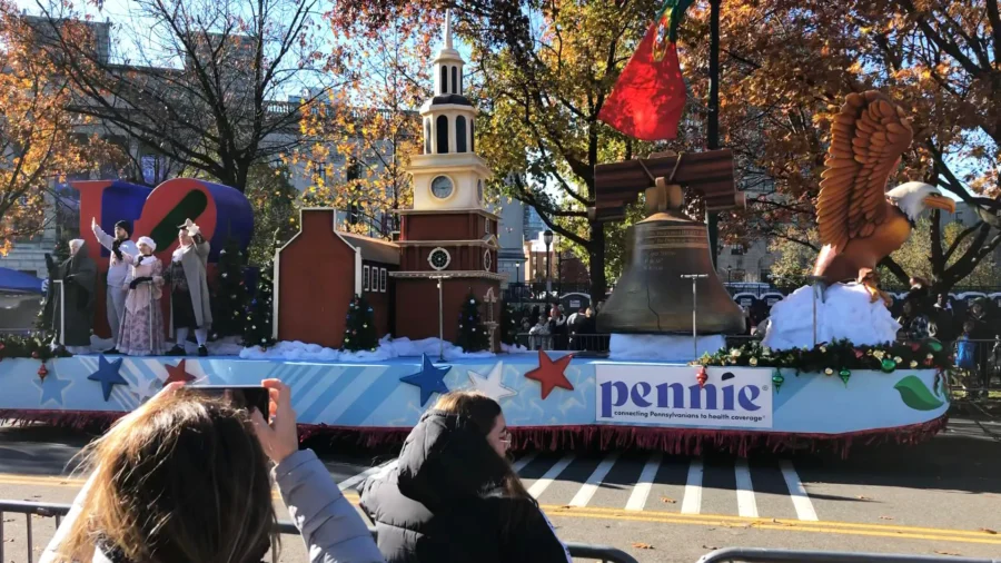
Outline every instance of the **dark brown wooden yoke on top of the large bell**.
[(626, 206), (641, 192), (647, 194), (647, 211), (655, 213), (652, 199), (666, 200), (670, 185), (696, 190), (705, 199), (707, 211), (745, 206), (744, 194), (736, 190), (734, 182), (730, 149), (681, 155), (655, 152), (645, 159), (595, 166), (595, 206), (587, 209), (588, 217), (597, 221), (622, 220)]

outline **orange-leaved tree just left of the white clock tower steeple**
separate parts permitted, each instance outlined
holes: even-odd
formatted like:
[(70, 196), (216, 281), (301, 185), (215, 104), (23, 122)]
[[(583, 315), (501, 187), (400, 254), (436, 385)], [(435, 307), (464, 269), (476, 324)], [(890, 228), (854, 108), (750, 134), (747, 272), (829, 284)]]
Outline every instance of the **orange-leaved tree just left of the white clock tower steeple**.
[(420, 150), (417, 110), (430, 96), (439, 19), (406, 6), (390, 10), (378, 29), (340, 10), (325, 18), (346, 39), (341, 56), (355, 80), (304, 117), (309, 142), (289, 164), (311, 179), (304, 205), (335, 207), (346, 211), (341, 228), (388, 238), (399, 228), (395, 211), (414, 200), (406, 170)]

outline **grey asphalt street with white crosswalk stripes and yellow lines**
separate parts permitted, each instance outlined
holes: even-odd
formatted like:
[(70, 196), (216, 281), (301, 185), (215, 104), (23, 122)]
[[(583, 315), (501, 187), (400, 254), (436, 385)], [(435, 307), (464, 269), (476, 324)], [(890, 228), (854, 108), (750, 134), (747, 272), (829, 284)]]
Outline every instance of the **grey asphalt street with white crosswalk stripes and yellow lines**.
[[(72, 501), (72, 457), (88, 436), (0, 427), (0, 498)], [(319, 448), (357, 504), (392, 452)], [(620, 547), (638, 561), (695, 562), (717, 547), (963, 555), (1001, 560), (1001, 423), (953, 419), (919, 446), (864, 446), (849, 460), (668, 456), (648, 452), (527, 453), (515, 467), (566, 541)], [(276, 497), (279, 517), (287, 518)], [(2, 563), (28, 562), (26, 517), (3, 515)], [(53, 531), (32, 518), (37, 555)], [(280, 561), (308, 561), (285, 536)]]

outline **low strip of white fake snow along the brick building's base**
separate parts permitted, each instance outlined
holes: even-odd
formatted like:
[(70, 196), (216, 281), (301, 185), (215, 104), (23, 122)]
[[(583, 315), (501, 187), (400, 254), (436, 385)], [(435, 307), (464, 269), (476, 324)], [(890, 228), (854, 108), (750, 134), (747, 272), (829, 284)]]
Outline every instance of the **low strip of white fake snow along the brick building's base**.
[(420, 357), (427, 354), (429, 357), (437, 358), (442, 349), (445, 352), (445, 359), (459, 358), (487, 358), (494, 356), (493, 352), (464, 352), (462, 347), (449, 342), (444, 343), (438, 338), (424, 338), (423, 340), (412, 340), (409, 338), (392, 338), (384, 336), (379, 340), (379, 345), (375, 352), (340, 352), (334, 348), (326, 348), (319, 344), (306, 344), (299, 340), (283, 340), (264, 350), (258, 346), (244, 348), (240, 350), (240, 357), (244, 359), (297, 359), (297, 360), (320, 360), (320, 362), (384, 362), (395, 357)]

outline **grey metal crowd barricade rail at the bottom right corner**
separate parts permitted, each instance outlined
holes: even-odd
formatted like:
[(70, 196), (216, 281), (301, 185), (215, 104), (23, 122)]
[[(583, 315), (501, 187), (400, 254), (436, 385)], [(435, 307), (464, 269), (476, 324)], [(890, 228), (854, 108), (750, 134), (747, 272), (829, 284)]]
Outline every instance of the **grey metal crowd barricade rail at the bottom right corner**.
[(833, 551), (789, 551), (726, 547), (705, 554), (696, 563), (999, 563), (997, 559), (939, 555), (898, 555)]

